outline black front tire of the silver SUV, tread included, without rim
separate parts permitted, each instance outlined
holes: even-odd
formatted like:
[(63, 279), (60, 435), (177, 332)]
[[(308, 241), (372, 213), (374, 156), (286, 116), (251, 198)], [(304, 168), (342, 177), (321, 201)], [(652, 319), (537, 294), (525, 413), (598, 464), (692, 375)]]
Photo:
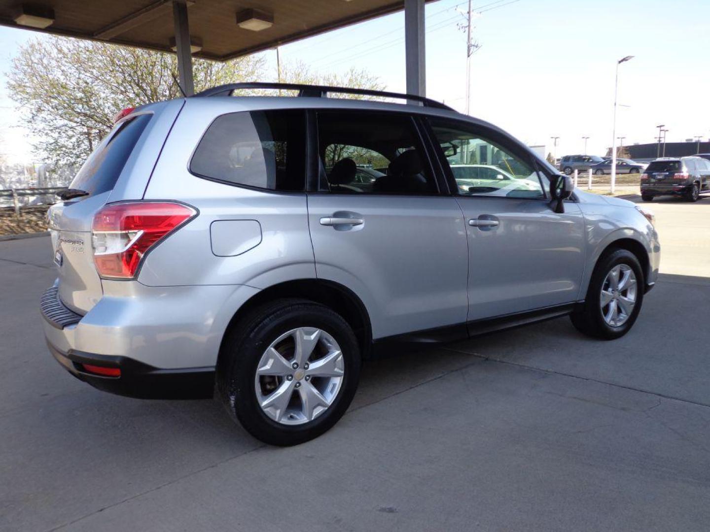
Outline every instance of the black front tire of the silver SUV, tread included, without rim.
[[(628, 265), (636, 276), (636, 304), (634, 305), (633, 311), (628, 319), (621, 326), (612, 327), (604, 321), (602, 315), (601, 289), (608, 272), (613, 267), (620, 264)], [(599, 261), (596, 263), (596, 267), (594, 267), (594, 272), (591, 274), (589, 289), (586, 292), (584, 304), (581, 304), (579, 308), (569, 316), (569, 318), (572, 320), (572, 324), (577, 328), (577, 330), (587, 336), (601, 338), (603, 340), (615, 340), (616, 338), (621, 338), (621, 336), (624, 336), (628, 333), (628, 331), (630, 331), (630, 328), (633, 327), (636, 318), (638, 318), (638, 313), (640, 312), (641, 305), (643, 304), (644, 287), (645, 282), (643, 270), (641, 270), (641, 265), (638, 262), (636, 255), (628, 250), (618, 248), (608, 250), (608, 252), (599, 258)]]

